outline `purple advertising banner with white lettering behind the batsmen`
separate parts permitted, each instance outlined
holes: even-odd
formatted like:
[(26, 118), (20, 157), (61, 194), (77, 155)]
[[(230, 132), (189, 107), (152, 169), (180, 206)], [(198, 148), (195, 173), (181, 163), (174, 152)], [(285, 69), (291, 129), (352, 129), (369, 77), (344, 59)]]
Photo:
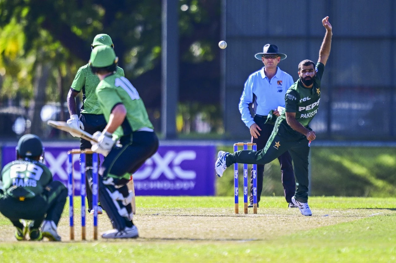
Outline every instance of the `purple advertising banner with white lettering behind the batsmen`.
[[(77, 147), (75, 147), (77, 148)], [(45, 163), (54, 180), (67, 185), (67, 151), (45, 147)], [(158, 152), (133, 174), (136, 195), (214, 195), (215, 146), (160, 146)], [(79, 154), (73, 156), (75, 194), (80, 194)], [(15, 160), (15, 146), (2, 149), (2, 165)], [(103, 156), (101, 156), (103, 160)]]

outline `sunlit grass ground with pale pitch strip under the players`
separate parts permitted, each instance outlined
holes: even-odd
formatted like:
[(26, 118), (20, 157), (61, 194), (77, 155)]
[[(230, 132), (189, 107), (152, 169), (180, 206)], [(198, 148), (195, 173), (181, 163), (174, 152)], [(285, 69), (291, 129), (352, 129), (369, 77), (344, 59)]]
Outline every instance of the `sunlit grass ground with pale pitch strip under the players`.
[[(0, 216), (0, 258), (1, 262), (396, 260), (395, 198), (311, 197), (310, 217), (286, 205), (282, 197), (263, 197), (257, 215), (235, 215), (233, 197), (137, 197), (139, 239), (93, 241), (88, 216), (86, 242), (69, 241), (67, 212), (59, 225), (63, 242), (58, 243), (17, 242), (13, 227)], [(79, 230), (77, 209), (75, 218)], [(99, 232), (110, 228), (107, 216), (100, 216)], [(80, 238), (78, 231), (76, 237)]]

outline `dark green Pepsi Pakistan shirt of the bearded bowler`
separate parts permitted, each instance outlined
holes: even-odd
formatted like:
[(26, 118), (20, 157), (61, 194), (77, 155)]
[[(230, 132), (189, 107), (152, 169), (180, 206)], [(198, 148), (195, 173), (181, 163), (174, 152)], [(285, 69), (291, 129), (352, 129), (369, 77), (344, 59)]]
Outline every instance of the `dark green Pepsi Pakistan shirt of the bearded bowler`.
[(320, 81), (322, 79), (324, 64), (318, 62), (315, 67), (316, 77), (312, 88), (303, 86), (301, 79), (296, 81), (287, 90), (285, 96), (285, 110), (280, 116), (278, 125), (286, 125), (291, 127), (286, 122), (286, 112), (296, 113), (296, 120), (304, 127), (307, 127), (311, 120), (318, 113), (320, 102)]

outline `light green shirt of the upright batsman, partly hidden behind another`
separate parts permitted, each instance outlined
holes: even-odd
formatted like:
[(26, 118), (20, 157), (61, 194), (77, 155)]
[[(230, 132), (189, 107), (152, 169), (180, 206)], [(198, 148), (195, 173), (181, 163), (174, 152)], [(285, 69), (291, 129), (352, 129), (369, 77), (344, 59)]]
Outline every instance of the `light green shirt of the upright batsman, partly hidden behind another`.
[[(116, 73), (124, 77), (124, 70), (122, 68), (117, 67)], [(78, 69), (76, 77), (74, 77), (74, 81), (70, 88), (76, 92), (80, 92), (82, 90), (81, 113), (103, 114), (101, 107), (98, 105), (95, 94), (95, 88), (99, 82), (99, 78), (97, 75), (92, 73), (88, 64)]]

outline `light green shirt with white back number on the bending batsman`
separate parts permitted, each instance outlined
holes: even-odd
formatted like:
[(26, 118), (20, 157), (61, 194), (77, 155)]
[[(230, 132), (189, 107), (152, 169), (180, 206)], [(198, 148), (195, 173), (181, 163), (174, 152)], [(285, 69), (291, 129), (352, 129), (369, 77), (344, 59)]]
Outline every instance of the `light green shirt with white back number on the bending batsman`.
[(107, 122), (109, 122), (109, 116), (114, 106), (120, 103), (124, 104), (127, 111), (125, 120), (114, 132), (118, 137), (129, 135), (132, 131), (145, 127), (154, 129), (148, 119), (143, 100), (125, 77), (118, 74), (107, 76), (97, 86), (96, 95)]

